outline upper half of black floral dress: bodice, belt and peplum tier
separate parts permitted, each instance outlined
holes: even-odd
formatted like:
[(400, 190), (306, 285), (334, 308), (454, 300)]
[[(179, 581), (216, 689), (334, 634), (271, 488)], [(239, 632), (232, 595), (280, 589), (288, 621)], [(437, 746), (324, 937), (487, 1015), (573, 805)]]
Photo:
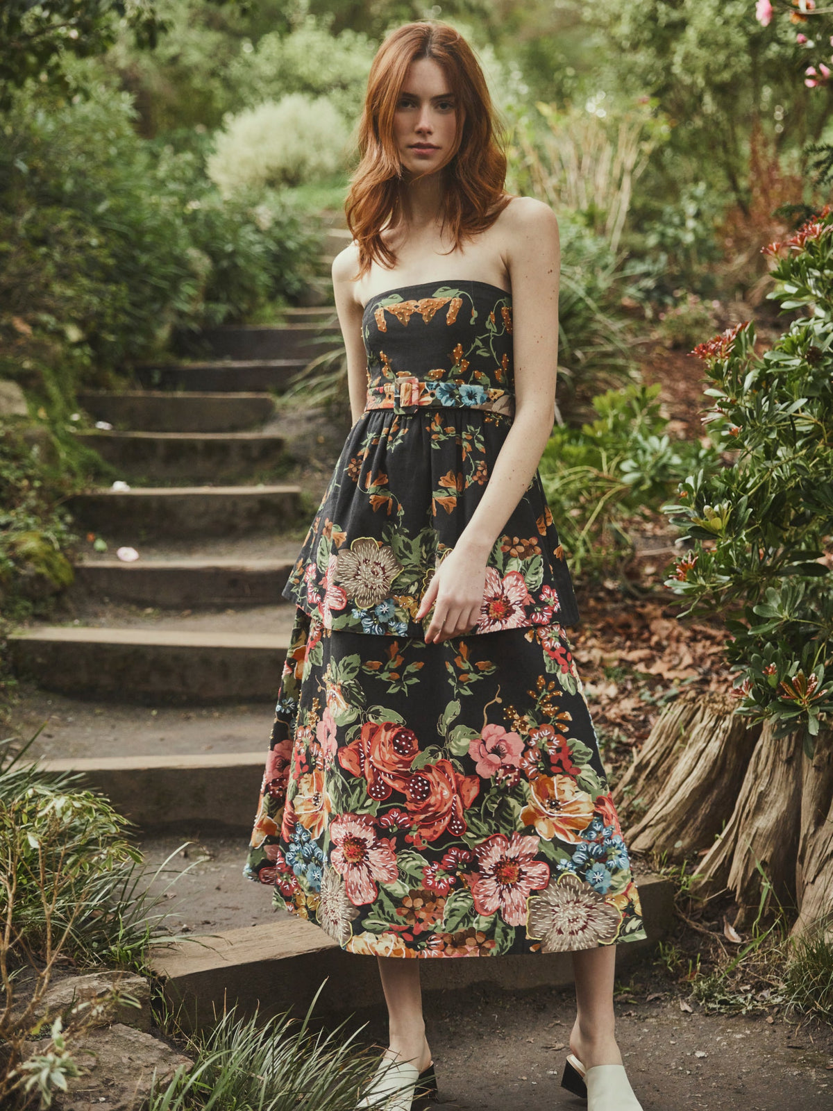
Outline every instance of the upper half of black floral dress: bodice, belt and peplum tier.
[[(415, 619), (422, 595), (512, 426), (511, 294), (476, 281), (389, 290), (368, 302), (362, 333), (367, 407), (283, 597), (328, 629), (419, 637), (431, 620)], [(489, 556), (472, 635), (578, 619), (535, 472)]]

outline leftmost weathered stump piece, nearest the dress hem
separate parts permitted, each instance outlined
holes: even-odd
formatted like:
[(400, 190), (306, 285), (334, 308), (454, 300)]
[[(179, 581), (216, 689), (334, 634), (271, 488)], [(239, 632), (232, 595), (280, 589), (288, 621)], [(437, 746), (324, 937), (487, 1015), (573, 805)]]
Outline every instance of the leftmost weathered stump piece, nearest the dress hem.
[(616, 788), (632, 784), (633, 801), (649, 803), (625, 833), (633, 851), (661, 849), (682, 860), (711, 848), (760, 733), (732, 712), (734, 704), (724, 694), (686, 693), (660, 715)]

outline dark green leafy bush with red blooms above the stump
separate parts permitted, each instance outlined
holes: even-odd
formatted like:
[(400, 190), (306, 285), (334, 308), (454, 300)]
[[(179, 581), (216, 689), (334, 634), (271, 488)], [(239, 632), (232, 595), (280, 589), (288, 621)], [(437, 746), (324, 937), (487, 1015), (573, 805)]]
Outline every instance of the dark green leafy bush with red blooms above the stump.
[(783, 244), (770, 294), (804, 310), (762, 356), (739, 324), (695, 349), (713, 400), (711, 428), (735, 456), (685, 479), (672, 523), (692, 541), (669, 580), (685, 613), (724, 615), (726, 655), (739, 672), (739, 709), (779, 729), (803, 728), (812, 753), (833, 627), (833, 213)]

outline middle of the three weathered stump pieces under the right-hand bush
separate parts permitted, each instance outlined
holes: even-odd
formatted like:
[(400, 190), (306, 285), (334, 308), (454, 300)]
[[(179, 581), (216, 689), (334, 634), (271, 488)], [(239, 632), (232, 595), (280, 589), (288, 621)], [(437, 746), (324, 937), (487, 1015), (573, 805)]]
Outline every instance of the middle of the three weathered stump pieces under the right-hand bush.
[(776, 738), (772, 722), (764, 723), (726, 828), (697, 869), (701, 874), (692, 892), (732, 891), (739, 907), (733, 921), (737, 928), (757, 913), (764, 884), (761, 869), (771, 884), (763, 911), (769, 910), (773, 894), (787, 913), (797, 910), (795, 862), (804, 760), (801, 733)]

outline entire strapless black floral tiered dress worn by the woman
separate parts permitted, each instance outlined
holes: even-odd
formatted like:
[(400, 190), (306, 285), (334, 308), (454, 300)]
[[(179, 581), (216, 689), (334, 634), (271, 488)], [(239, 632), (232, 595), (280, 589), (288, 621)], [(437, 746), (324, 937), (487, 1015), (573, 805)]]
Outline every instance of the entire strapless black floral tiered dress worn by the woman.
[(511, 294), (400, 287), (362, 333), (367, 407), (283, 589), (295, 622), (244, 874), (354, 953), (643, 939), (538, 472), (472, 632), (426, 644), (415, 619), (512, 424)]

